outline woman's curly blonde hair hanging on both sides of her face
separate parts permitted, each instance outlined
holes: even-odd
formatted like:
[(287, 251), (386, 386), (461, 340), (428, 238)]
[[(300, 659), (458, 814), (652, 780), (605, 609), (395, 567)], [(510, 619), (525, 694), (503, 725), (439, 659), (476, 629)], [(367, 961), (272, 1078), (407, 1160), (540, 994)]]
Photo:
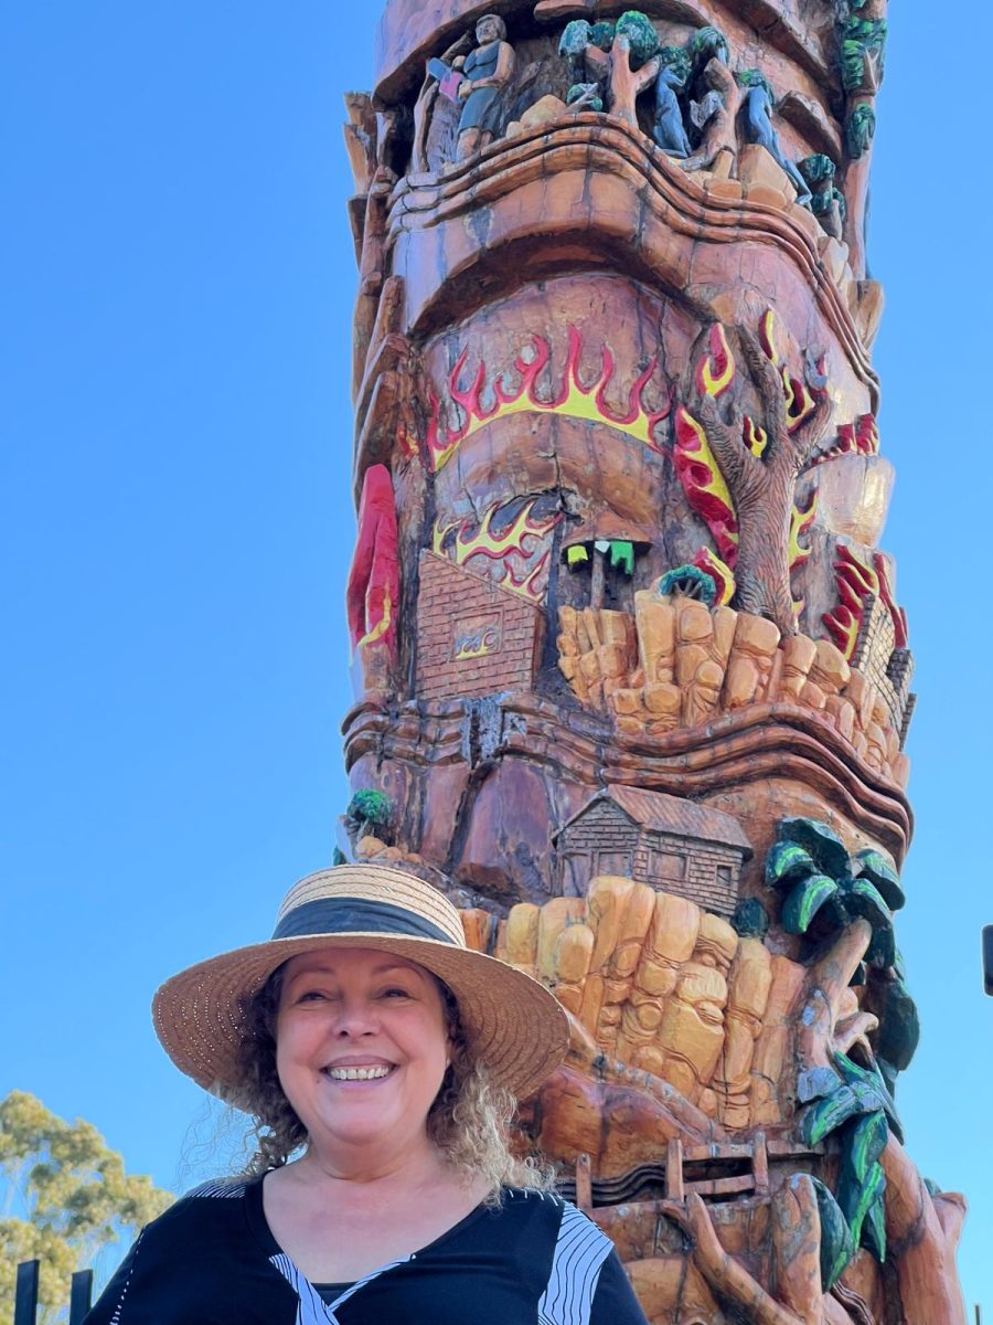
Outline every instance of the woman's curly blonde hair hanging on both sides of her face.
[[(428, 1136), (467, 1181), (486, 1178), (490, 1199), (499, 1199), (502, 1187), (549, 1189), (552, 1170), (538, 1157), (522, 1159), (510, 1149), (516, 1100), (494, 1085), (486, 1064), (474, 1059), (455, 995), (437, 977), (432, 979), (442, 998), (451, 1063), (428, 1112)], [(307, 1130), (283, 1094), (275, 1068), (282, 984), (283, 967), (278, 967), (244, 1010), (241, 1080), (232, 1102), (253, 1118), (249, 1143), (256, 1153), (246, 1169), (252, 1177), (279, 1169), (307, 1143)]]

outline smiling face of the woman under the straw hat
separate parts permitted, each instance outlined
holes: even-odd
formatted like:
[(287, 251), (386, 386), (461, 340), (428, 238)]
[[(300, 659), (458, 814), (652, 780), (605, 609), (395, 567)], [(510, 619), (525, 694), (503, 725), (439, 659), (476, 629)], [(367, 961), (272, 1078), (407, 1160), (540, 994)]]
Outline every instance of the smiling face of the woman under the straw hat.
[(400, 1151), (426, 1137), (449, 1061), (442, 996), (424, 967), (368, 949), (286, 965), (275, 1063), (312, 1145)]

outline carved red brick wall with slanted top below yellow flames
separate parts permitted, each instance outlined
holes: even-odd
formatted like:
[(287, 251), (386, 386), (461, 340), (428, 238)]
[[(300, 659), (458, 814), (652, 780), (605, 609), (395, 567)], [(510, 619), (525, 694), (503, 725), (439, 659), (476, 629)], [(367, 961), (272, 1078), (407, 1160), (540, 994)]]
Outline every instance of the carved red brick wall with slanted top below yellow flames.
[(538, 607), (433, 553), (421, 555), (421, 698), (474, 698), (530, 689), (539, 648)]

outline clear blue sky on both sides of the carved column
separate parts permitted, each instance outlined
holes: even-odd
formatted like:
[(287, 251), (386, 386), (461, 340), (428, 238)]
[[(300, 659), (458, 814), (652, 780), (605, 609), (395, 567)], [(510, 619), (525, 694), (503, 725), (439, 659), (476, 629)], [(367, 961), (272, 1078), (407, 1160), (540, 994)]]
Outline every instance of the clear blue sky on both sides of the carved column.
[[(163, 1186), (209, 1159), (151, 992), (267, 934), (330, 861), (347, 796), (340, 125), (377, 12), (4, 15), (0, 1094), (89, 1118)], [(993, 45), (980, 0), (956, 30)], [(871, 237), (899, 473), (884, 546), (922, 697), (899, 933), (924, 1040), (900, 1104), (922, 1170), (970, 1199), (963, 1277), (993, 1313), (988, 106), (982, 78), (935, 77), (935, 42), (932, 16), (895, 8)]]

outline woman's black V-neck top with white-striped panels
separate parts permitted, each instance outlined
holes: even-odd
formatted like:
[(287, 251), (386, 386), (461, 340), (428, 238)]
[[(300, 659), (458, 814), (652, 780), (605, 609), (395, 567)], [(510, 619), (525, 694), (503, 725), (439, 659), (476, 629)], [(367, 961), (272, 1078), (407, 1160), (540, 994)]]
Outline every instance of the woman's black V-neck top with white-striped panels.
[(150, 1224), (86, 1325), (645, 1325), (609, 1239), (507, 1189), (356, 1284), (312, 1284), (277, 1244), (262, 1181), (199, 1187)]

